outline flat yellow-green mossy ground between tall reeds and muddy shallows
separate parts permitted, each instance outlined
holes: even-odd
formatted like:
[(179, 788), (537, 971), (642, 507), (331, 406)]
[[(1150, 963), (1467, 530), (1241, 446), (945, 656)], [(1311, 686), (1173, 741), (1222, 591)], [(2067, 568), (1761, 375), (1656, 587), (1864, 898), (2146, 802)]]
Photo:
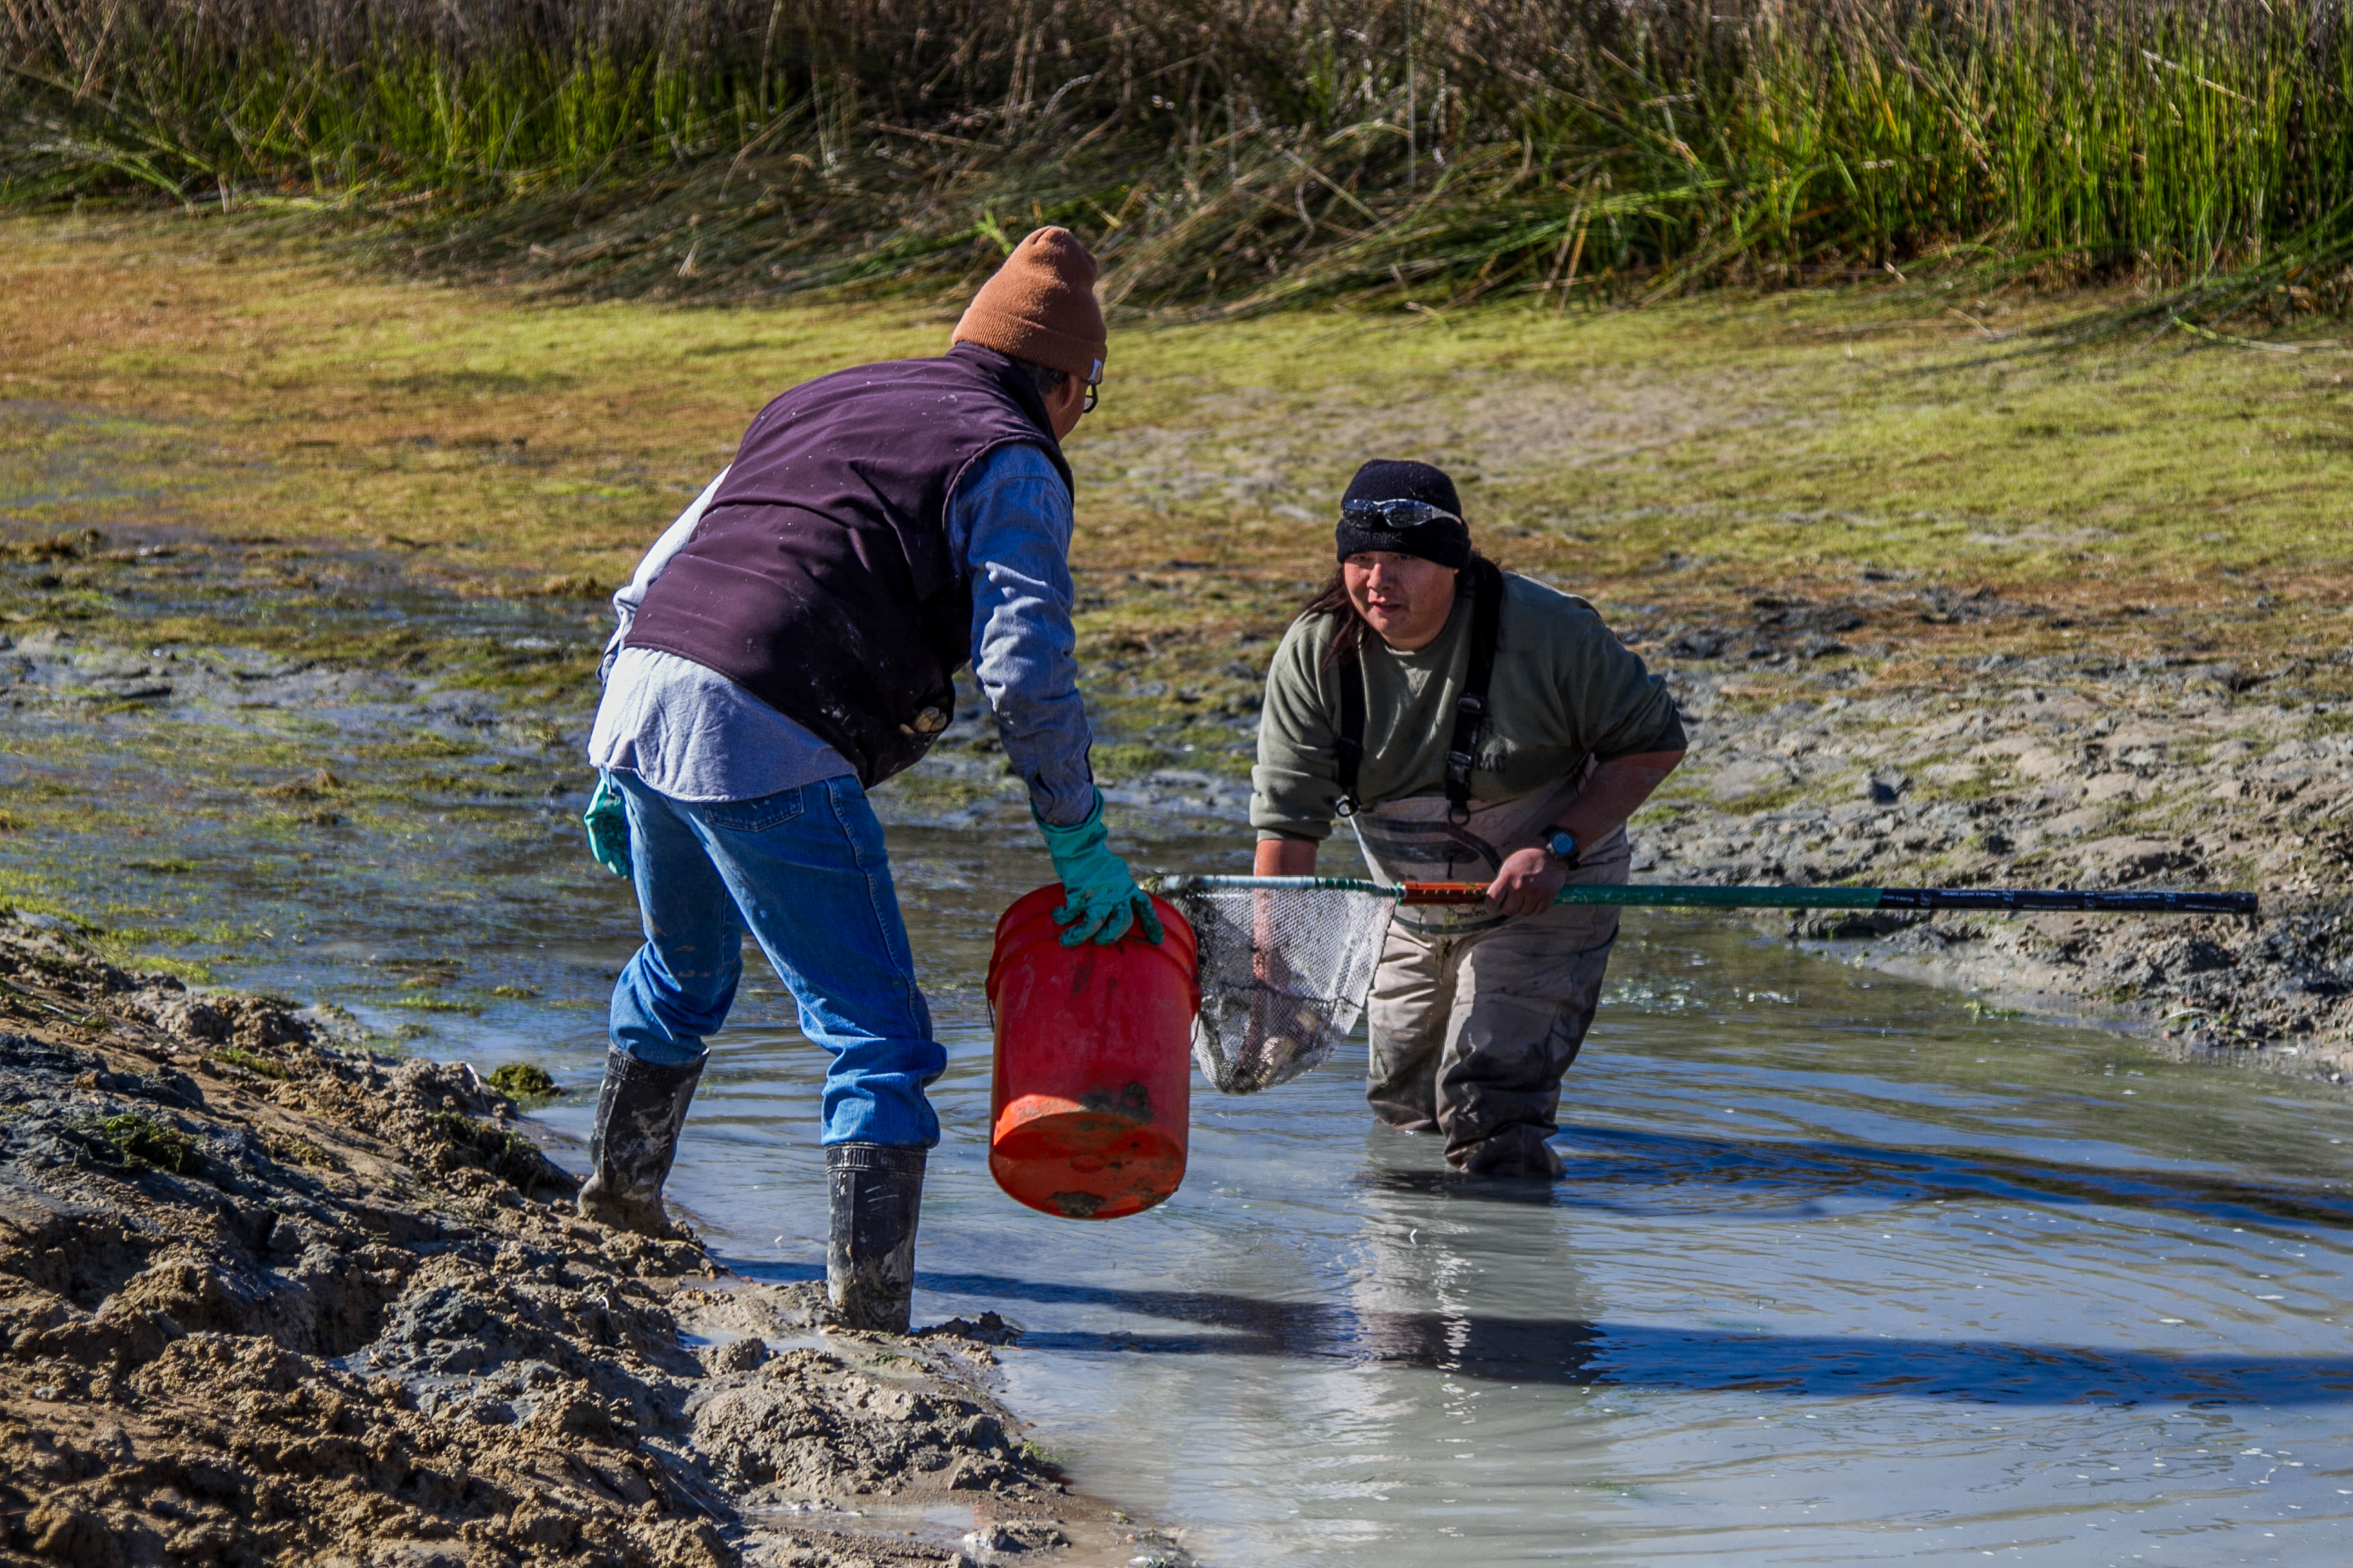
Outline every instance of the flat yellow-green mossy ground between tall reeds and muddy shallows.
[[(885, 303), (518, 303), (353, 277), (202, 219), (5, 233), (16, 541), (179, 520), (369, 550), (449, 592), (579, 597), (584, 618), (760, 402), (927, 353), (951, 322)], [(1767, 597), (1849, 604), (1833, 661), (2289, 661), (2339, 642), (2341, 360), (2002, 357), (1988, 336), (2080, 301), (1962, 306), (1715, 294), (1631, 315), (1122, 331), (1104, 409), (1071, 444), (1082, 646), (1129, 684), (1238, 693), (1249, 679), (1228, 665), (1322, 574), (1332, 496), (1377, 451), (1449, 465), (1506, 559), (1659, 644), (1777, 614)], [(0, 614), (104, 621), (108, 571), (144, 567), (61, 559), (49, 588), (12, 578)]]

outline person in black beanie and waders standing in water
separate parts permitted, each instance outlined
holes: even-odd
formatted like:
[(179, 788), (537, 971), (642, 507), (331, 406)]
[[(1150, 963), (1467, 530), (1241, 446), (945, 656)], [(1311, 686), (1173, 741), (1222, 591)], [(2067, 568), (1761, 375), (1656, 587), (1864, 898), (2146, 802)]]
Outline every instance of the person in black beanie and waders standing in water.
[(1365, 463), (1337, 545), (1266, 677), (1257, 872), (1313, 872), (1339, 811), (1381, 882), (1489, 884), (1485, 905), (1395, 912), (1365, 1098), (1442, 1133), (1464, 1173), (1551, 1180), (1617, 940), (1617, 910), (1553, 893), (1626, 882), (1626, 818), (1682, 762), (1682, 719), (1591, 604), (1471, 550), (1438, 468)]

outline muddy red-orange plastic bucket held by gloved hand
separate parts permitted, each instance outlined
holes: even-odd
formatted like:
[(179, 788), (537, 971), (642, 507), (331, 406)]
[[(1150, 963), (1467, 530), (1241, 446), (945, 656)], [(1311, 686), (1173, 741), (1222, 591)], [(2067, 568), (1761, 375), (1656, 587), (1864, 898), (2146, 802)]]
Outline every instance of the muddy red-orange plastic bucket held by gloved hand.
[(1184, 1180), (1193, 1114), (1193, 926), (1167, 900), (1158, 947), (1129, 931), (1061, 945), (1061, 886), (998, 922), (988, 1006), (998, 1070), (988, 1173), (1007, 1197), (1066, 1220), (1118, 1220)]

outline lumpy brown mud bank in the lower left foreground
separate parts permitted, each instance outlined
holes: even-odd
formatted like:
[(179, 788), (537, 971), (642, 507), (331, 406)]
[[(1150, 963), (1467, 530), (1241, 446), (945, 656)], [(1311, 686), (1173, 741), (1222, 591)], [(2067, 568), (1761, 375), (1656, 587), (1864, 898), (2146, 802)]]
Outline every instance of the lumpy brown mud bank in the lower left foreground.
[(0, 1556), (1165, 1561), (988, 1392), (995, 1319), (579, 1220), (471, 1067), (0, 917)]

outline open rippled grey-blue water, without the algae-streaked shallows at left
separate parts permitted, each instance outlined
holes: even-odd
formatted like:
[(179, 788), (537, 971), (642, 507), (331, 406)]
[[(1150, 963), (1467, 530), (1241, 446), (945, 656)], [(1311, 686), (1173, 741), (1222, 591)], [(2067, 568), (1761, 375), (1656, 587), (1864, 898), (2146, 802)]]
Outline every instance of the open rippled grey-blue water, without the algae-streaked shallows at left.
[[(2353, 1556), (2337, 1093), (1631, 917), (1548, 1197), (1334, 1065), (1195, 1086), (1184, 1192), (1078, 1225), (984, 1161), (986, 936), (1042, 863), (899, 853), (951, 1051), (918, 1316), (1021, 1324), (1016, 1408), (1209, 1563)], [(821, 1272), (816, 1081), (776, 1025), (704, 1079), (673, 1187), (746, 1272)]]

